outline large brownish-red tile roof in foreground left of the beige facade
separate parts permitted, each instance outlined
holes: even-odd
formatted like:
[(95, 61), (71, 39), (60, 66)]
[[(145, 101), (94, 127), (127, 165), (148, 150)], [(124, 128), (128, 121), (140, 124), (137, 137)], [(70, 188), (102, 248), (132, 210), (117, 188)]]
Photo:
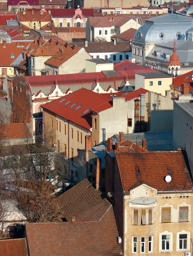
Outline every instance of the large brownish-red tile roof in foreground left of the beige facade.
[(30, 256), (120, 255), (113, 207), (100, 221), (26, 223)]

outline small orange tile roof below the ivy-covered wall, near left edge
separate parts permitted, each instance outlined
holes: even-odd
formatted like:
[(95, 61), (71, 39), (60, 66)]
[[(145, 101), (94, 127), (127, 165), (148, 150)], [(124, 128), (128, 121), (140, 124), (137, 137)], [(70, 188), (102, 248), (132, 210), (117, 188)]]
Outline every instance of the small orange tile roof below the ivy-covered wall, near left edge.
[(31, 137), (26, 123), (7, 124), (5, 126), (4, 136), (7, 140)]

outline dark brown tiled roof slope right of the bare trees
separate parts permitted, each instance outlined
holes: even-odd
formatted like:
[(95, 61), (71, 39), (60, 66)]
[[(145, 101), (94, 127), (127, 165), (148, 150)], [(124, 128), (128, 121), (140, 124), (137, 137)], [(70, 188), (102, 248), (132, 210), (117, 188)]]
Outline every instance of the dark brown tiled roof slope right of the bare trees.
[(71, 221), (72, 216), (75, 221), (99, 221), (111, 206), (87, 178), (58, 196), (57, 202), (66, 221)]

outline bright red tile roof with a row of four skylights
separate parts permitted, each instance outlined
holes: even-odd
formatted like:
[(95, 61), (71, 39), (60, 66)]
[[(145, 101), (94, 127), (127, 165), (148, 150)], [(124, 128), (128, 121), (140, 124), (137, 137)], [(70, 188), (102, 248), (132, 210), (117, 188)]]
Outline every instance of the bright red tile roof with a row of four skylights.
[[(61, 102), (62, 99), (65, 100)], [(65, 105), (67, 102), (69, 103)], [(77, 104), (70, 108), (74, 103)], [(81, 107), (75, 111), (80, 105)], [(100, 112), (113, 106), (111, 99), (81, 88), (52, 102), (45, 103), (42, 107), (89, 130), (92, 127), (91, 111)]]

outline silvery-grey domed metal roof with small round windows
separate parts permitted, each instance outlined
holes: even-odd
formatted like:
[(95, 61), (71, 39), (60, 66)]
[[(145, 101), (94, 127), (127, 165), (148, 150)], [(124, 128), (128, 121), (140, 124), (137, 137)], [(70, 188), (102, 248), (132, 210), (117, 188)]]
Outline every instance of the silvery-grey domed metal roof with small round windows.
[(145, 45), (185, 39), (187, 30), (192, 27), (193, 18), (173, 13), (161, 15), (145, 20), (132, 42)]

